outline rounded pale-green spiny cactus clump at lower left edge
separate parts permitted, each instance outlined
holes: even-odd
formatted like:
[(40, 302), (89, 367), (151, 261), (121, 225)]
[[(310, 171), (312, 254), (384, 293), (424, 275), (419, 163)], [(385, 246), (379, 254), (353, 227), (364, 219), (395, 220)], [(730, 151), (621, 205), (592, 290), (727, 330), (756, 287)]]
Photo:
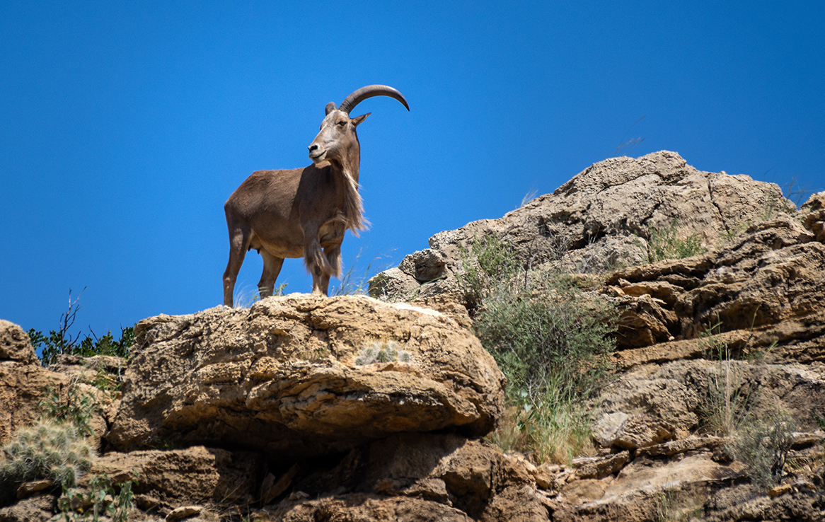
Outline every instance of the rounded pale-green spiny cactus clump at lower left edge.
[(71, 422), (39, 421), (2, 447), (0, 505), (14, 501), (23, 482), (47, 479), (71, 487), (92, 467), (92, 445)]

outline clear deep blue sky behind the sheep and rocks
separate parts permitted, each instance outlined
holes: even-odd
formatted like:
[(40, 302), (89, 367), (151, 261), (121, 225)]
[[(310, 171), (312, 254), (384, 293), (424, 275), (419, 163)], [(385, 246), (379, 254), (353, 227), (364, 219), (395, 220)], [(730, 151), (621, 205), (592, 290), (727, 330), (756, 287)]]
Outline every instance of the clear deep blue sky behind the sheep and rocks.
[[(218, 305), (224, 201), (309, 165), (327, 102), (371, 83), (410, 112), (353, 111), (359, 272), (623, 153), (825, 190), (823, 27), (825, 2), (4, 2), (0, 318), (57, 329), (84, 287), (98, 336)], [(311, 289), (299, 260), (282, 282)]]

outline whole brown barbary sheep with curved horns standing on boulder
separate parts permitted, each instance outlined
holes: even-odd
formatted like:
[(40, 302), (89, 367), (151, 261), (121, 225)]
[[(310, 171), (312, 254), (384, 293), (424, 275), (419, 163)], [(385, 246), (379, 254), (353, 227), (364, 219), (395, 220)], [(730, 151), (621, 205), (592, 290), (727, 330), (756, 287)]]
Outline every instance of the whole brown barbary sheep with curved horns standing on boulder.
[(258, 282), (261, 298), (275, 289), (286, 257), (303, 257), (312, 275), (314, 294), (328, 295), (329, 278), (341, 277), (344, 232), (366, 228), (358, 168), (361, 147), (356, 127), (370, 113), (350, 111), (372, 96), (389, 96), (409, 111), (407, 100), (393, 87), (361, 87), (340, 107), (330, 101), (321, 130), (309, 144), (312, 165), (284, 171), (253, 172), (224, 205), (229, 228), (229, 263), (224, 271), (224, 305), (233, 306), (238, 270), (247, 251), (263, 258)]

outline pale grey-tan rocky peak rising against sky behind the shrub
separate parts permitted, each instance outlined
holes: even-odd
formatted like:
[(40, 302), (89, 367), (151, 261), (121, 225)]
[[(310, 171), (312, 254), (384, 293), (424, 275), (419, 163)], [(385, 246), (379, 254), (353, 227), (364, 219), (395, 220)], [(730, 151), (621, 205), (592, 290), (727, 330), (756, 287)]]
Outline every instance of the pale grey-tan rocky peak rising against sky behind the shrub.
[(495, 234), (527, 267), (554, 261), (568, 272), (601, 272), (648, 261), (655, 230), (700, 238), (704, 247), (795, 205), (779, 186), (745, 175), (701, 172), (679, 154), (610, 158), (580, 172), (553, 194), (542, 195), (500, 219), (483, 219), (437, 233), (429, 248), (376, 275), (370, 294), (395, 299), (463, 297), (461, 247)]

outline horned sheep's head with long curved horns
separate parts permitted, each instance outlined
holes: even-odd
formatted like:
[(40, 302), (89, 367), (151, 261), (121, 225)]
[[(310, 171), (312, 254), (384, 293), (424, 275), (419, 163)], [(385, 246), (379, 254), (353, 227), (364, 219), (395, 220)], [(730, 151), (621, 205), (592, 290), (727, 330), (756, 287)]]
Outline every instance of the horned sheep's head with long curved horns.
[(361, 101), (373, 96), (389, 96), (400, 101), (403, 106), (410, 108), (404, 96), (393, 87), (385, 85), (369, 85), (361, 87), (344, 99), (340, 107), (330, 101), (327, 104), (326, 116), (321, 122), (321, 130), (312, 143), (309, 144), (309, 159), (316, 165), (322, 162), (340, 162), (342, 156), (358, 153), (358, 134), (356, 127), (366, 120), (370, 113), (350, 117), (350, 111)]

